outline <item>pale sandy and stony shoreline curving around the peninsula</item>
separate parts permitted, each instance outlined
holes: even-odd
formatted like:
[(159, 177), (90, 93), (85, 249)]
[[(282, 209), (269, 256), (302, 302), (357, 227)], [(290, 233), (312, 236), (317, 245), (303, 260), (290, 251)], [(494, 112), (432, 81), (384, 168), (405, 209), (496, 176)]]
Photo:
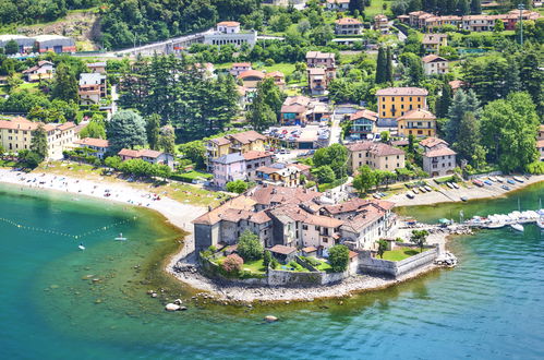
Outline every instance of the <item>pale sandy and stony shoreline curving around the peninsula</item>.
[[(19, 176), (17, 176), (19, 173)], [(21, 179), (24, 179), (23, 181)], [(34, 181), (34, 179), (37, 179)], [(31, 180), (29, 182), (27, 180)], [(474, 193), (472, 199), (486, 199), (486, 197), (499, 197), (504, 196), (508, 192), (521, 190), (530, 184), (544, 181), (544, 176), (533, 176), (528, 181), (520, 183), (516, 189), (511, 191), (503, 191), (499, 194), (489, 194), (488, 192)], [(267, 286), (250, 286), (245, 284), (222, 284), (205, 277), (200, 273), (177, 273), (173, 271), (176, 264), (182, 265), (195, 265), (196, 254), (194, 254), (194, 238), (193, 229), (191, 227), (191, 221), (204, 214), (206, 208), (202, 206), (182, 204), (169, 197), (161, 197), (159, 201), (154, 201), (153, 193), (147, 191), (142, 191), (134, 189), (128, 184), (123, 184), (121, 181), (116, 183), (100, 183), (94, 180), (78, 180), (69, 176), (55, 176), (55, 175), (41, 175), (41, 173), (25, 173), (20, 171), (13, 171), (10, 169), (0, 169), (0, 182), (10, 183), (14, 185), (22, 185), (31, 189), (46, 189), (60, 192), (68, 192), (75, 195), (85, 195), (94, 199), (101, 199), (107, 201), (112, 201), (117, 203), (124, 203), (132, 206), (141, 206), (145, 208), (150, 208), (159, 214), (161, 214), (167, 221), (186, 232), (183, 239), (183, 244), (181, 249), (167, 259), (165, 259), (164, 272), (172, 276), (176, 280), (182, 283), (183, 285), (190, 287), (194, 291), (208, 292), (208, 298), (215, 298), (223, 302), (254, 302), (254, 301), (265, 301), (265, 302), (285, 302), (285, 301), (313, 301), (314, 299), (338, 299), (350, 297), (353, 293), (380, 290), (387, 287), (400, 284), (412, 278), (423, 276), (424, 274), (436, 271), (440, 266), (427, 265), (418, 268), (409, 274), (404, 274), (396, 279), (385, 278), (379, 276), (368, 276), (368, 275), (354, 275), (344, 279), (343, 281), (335, 285), (328, 286), (317, 286), (317, 287), (267, 287)], [(43, 183), (40, 183), (43, 182)], [(476, 187), (474, 187), (476, 188)], [(489, 187), (491, 188), (491, 187)], [(476, 188), (476, 191), (485, 188)], [(498, 188), (500, 189), (500, 188)], [(104, 196), (105, 190), (109, 190), (110, 196)], [(459, 189), (459, 190), (470, 190), (470, 189)], [(459, 191), (458, 190), (458, 191)], [(500, 189), (503, 190), (503, 189)], [(434, 195), (439, 194), (439, 192), (432, 192), (423, 195)], [(403, 196), (409, 201), (406, 196)], [(455, 200), (448, 201), (432, 201), (433, 199), (425, 199), (426, 203), (400, 203), (397, 206), (418, 206), (418, 205), (435, 205), (445, 202), (455, 202)], [(443, 249), (446, 249), (446, 243), (452, 233), (443, 233), (434, 237), (434, 242), (438, 243)]]

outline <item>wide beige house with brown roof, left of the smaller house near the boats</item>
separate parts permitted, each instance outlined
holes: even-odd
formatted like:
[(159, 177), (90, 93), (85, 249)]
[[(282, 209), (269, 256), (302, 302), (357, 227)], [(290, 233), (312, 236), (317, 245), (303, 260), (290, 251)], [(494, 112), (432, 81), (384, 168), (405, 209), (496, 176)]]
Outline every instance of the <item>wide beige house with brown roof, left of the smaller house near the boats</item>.
[(395, 171), (406, 166), (404, 152), (385, 143), (362, 141), (347, 147), (351, 173), (355, 173), (364, 165), (371, 169), (386, 171)]

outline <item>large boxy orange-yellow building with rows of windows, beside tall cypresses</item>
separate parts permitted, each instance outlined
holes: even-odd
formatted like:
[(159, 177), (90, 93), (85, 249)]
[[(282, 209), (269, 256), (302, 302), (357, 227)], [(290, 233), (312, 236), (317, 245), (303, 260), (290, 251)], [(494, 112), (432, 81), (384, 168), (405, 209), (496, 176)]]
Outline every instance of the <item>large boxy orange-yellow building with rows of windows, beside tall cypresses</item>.
[(387, 87), (376, 92), (379, 119), (397, 119), (413, 109), (427, 107), (428, 92), (420, 87)]

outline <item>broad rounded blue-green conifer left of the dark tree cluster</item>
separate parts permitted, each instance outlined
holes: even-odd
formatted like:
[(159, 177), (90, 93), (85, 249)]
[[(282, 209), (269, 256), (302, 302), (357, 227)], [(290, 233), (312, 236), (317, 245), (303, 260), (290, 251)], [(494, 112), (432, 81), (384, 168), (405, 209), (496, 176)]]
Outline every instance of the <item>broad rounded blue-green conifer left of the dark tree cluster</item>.
[(146, 144), (145, 120), (133, 110), (120, 110), (108, 122), (107, 135), (112, 152)]

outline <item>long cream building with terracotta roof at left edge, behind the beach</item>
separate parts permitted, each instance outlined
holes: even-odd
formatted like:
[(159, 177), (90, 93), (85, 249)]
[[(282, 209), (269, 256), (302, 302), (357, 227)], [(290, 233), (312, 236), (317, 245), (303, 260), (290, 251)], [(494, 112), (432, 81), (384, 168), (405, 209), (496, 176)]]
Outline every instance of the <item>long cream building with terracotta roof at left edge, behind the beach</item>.
[[(33, 122), (25, 118), (0, 120), (0, 144), (5, 152), (19, 153), (29, 149), (32, 132), (36, 130), (39, 122)], [(58, 160), (64, 157), (65, 149), (73, 147), (75, 136), (75, 124), (46, 123), (44, 130), (47, 132), (47, 160)]]

